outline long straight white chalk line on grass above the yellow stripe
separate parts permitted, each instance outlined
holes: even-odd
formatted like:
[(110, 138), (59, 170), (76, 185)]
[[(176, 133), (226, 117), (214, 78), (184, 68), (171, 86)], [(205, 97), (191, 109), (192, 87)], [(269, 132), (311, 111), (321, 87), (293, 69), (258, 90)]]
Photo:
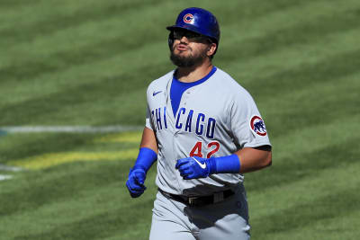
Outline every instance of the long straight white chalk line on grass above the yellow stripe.
[(140, 130), (144, 126), (4, 126), (0, 132), (9, 133), (114, 133)]

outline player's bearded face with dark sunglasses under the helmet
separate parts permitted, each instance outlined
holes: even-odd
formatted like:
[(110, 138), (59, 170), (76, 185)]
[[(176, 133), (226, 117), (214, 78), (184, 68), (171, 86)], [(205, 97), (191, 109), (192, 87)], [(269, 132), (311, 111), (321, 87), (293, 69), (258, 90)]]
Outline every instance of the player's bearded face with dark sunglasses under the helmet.
[(170, 59), (177, 67), (193, 67), (209, 58), (211, 41), (193, 31), (175, 30)]

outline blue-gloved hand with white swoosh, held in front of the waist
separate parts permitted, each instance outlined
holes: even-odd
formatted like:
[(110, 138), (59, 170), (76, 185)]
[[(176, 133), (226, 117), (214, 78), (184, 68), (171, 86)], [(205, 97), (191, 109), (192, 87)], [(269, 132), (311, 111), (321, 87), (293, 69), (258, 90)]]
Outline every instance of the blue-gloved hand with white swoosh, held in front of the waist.
[(184, 180), (205, 178), (211, 173), (209, 159), (199, 156), (179, 159), (176, 162), (175, 168), (180, 172)]

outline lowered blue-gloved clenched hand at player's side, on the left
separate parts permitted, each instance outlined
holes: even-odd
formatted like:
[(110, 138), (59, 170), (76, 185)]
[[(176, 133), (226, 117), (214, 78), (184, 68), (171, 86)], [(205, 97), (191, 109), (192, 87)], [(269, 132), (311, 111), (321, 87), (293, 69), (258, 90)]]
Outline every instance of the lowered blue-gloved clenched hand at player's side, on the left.
[(126, 181), (126, 187), (130, 192), (131, 198), (138, 198), (146, 187), (144, 185), (146, 179), (146, 172), (142, 168), (133, 167), (130, 169), (128, 181)]

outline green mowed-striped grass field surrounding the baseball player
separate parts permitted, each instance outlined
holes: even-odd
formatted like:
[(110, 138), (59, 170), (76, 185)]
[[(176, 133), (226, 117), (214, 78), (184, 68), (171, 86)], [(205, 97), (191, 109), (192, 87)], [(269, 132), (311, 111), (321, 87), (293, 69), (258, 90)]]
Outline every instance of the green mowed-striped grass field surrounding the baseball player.
[(148, 84), (173, 69), (165, 27), (188, 6), (217, 15), (214, 65), (274, 146), (245, 175), (252, 239), (360, 239), (358, 0), (1, 0), (1, 240), (148, 239), (155, 167), (141, 198), (125, 188), (139, 130), (4, 128), (143, 126)]

